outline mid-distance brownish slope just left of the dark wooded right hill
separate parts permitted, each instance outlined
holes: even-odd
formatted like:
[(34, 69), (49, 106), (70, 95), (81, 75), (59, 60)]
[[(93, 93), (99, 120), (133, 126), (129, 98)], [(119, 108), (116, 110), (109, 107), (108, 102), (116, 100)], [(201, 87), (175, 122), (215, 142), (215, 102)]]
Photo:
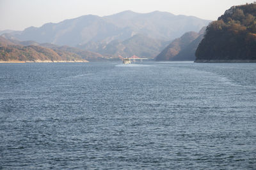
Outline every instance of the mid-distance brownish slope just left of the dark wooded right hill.
[(193, 57), (193, 48), (195, 48), (196, 42), (198, 41), (196, 39), (199, 36), (200, 34), (197, 32), (186, 32), (183, 36), (173, 40), (170, 45), (166, 46), (166, 48), (157, 55), (155, 58), (156, 61), (191, 60), (191, 58), (195, 60), (195, 57)]

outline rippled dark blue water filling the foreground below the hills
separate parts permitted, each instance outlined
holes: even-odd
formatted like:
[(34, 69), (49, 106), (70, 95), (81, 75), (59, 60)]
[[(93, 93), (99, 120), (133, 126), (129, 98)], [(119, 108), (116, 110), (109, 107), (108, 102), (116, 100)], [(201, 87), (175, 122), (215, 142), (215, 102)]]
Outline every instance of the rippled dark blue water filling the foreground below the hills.
[(0, 73), (0, 169), (256, 169), (256, 64)]

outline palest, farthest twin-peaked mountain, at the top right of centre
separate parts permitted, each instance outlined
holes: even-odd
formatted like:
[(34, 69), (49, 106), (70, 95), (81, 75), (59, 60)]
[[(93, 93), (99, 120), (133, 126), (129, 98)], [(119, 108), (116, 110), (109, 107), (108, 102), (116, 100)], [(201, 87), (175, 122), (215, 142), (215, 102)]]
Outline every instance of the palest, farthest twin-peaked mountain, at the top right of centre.
[(173, 15), (162, 11), (151, 13), (123, 11), (104, 18), (118, 27), (130, 28), (133, 31), (132, 36), (143, 34), (149, 38), (166, 41), (179, 38), (188, 31), (198, 32), (205, 24), (207, 25), (210, 22), (192, 16)]

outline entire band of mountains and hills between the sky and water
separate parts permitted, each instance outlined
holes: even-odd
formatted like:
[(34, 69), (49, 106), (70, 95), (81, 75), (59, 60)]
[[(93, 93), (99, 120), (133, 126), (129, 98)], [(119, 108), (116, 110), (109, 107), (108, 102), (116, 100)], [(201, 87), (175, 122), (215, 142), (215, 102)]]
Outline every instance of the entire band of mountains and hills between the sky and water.
[(161, 11), (123, 11), (0, 31), (0, 60), (97, 61), (137, 55), (163, 61), (255, 62), (255, 9), (256, 3), (233, 6), (211, 24)]

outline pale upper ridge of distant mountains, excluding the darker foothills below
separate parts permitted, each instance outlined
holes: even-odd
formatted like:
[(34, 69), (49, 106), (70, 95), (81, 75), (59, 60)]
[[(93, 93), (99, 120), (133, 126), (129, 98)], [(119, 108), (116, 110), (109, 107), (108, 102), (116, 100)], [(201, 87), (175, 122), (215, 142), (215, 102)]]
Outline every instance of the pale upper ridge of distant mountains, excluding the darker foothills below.
[(124, 41), (136, 34), (169, 41), (184, 32), (199, 31), (209, 22), (196, 17), (161, 11), (152, 13), (124, 11), (106, 17), (84, 15), (56, 24), (47, 23), (42, 27), (29, 27), (22, 32), (10, 34), (20, 41), (32, 40), (38, 43), (68, 46), (83, 46), (92, 42), (108, 44), (113, 40)]

